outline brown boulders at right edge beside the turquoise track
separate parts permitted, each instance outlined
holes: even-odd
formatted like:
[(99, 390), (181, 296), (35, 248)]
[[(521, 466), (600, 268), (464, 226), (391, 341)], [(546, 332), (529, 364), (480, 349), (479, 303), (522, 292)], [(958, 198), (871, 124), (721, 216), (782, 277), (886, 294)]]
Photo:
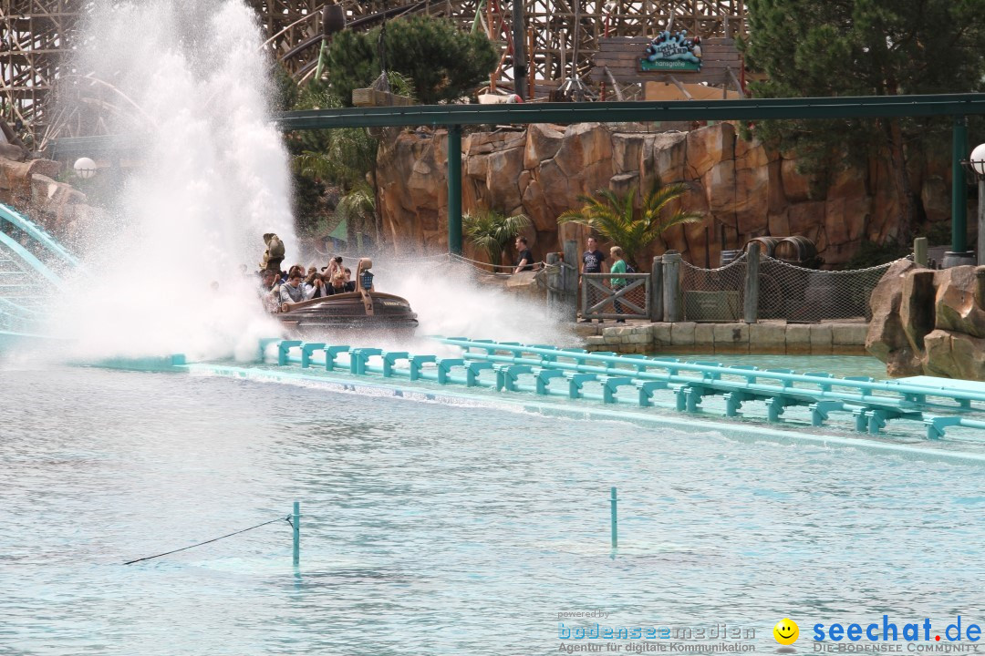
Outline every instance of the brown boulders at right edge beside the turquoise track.
[(985, 381), (985, 267), (897, 262), (873, 290), (866, 349), (890, 376)]

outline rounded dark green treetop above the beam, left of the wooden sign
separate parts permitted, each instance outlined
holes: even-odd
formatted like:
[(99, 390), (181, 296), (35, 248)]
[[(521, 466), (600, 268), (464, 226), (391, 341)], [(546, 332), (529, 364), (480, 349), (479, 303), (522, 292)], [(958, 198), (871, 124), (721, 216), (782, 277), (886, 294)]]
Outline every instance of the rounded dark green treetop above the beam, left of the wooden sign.
[[(352, 104), (353, 89), (369, 87), (379, 77), (379, 34), (379, 28), (344, 30), (332, 39), (325, 71), (346, 105)], [(482, 33), (425, 16), (387, 23), (384, 45), (387, 70), (406, 75), (425, 104), (467, 95), (482, 85), (499, 60), (495, 45)]]

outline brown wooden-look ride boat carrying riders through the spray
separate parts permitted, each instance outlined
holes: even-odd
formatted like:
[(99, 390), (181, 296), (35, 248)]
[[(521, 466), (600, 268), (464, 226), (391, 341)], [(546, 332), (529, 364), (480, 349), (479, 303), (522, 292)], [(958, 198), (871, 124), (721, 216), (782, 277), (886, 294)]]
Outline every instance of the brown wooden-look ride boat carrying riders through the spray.
[(418, 315), (411, 310), (407, 299), (362, 287), (362, 273), (369, 268), (372, 262), (362, 258), (356, 269), (356, 291), (284, 303), (274, 317), (289, 331), (304, 337), (350, 329), (413, 336), (418, 328)]

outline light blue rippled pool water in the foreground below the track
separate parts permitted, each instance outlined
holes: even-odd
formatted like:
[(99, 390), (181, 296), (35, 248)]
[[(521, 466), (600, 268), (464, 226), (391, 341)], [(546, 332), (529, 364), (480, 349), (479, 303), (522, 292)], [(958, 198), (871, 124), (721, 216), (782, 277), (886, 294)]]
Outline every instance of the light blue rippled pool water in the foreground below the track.
[[(2, 375), (0, 653), (547, 654), (558, 613), (594, 609), (753, 627), (760, 652), (790, 617), (808, 653), (819, 622), (985, 620), (973, 464), (488, 398)], [(286, 522), (121, 565), (295, 500), (298, 570)]]

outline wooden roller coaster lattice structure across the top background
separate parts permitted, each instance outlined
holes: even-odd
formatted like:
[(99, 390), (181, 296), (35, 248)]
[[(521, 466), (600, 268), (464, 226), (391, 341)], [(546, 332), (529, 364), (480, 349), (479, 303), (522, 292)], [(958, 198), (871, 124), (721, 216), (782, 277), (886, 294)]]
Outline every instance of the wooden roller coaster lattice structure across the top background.
[[(259, 16), (265, 46), (300, 82), (317, 67), (326, 37), (325, 0), (244, 0)], [(744, 33), (745, 0), (522, 0), (524, 48), (530, 79), (540, 89), (557, 88), (566, 78), (587, 77), (600, 40), (647, 36), (673, 19), (677, 29), (702, 38)], [(77, 38), (85, 0), (0, 0), (0, 88), (2, 117), (31, 145), (55, 122), (50, 102), (56, 83), (66, 77), (65, 55)], [(511, 0), (339, 0), (347, 29), (371, 29), (384, 20), (427, 13), (443, 16), (467, 30), (483, 30), (502, 48), (491, 86), (510, 89), (513, 71)], [(85, 72), (80, 72), (85, 75)], [(101, 89), (111, 88), (103, 81)], [(111, 93), (112, 94), (112, 93)], [(99, 100), (106, 102), (106, 100)], [(110, 102), (111, 104), (111, 102)], [(99, 130), (92, 122), (66, 122), (62, 136)]]

